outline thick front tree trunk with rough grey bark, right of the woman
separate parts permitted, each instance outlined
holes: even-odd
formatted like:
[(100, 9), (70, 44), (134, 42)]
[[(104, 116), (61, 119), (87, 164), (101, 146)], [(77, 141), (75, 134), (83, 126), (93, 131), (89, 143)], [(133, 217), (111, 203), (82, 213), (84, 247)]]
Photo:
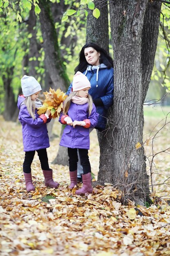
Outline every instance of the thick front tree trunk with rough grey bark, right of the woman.
[[(147, 7), (150, 9), (149, 13), (152, 13), (152, 18), (148, 16)], [(148, 40), (147, 36), (143, 36), (144, 31), (151, 33), (149, 28), (151, 29), (152, 26), (157, 26), (158, 29), (155, 20), (159, 18), (153, 19), (152, 8), (154, 8), (153, 5), (148, 6), (148, 0), (110, 1), (115, 66), (114, 105), (108, 115), (110, 128), (106, 133), (106, 143), (102, 148), (103, 161), (100, 162), (98, 175), (99, 182), (107, 181), (119, 186), (125, 199), (130, 198), (140, 204), (144, 204), (149, 194), (144, 147), (136, 149), (136, 145), (137, 143), (143, 145), (143, 103), (157, 45), (157, 34), (152, 34), (155, 40), (153, 48), (149, 48), (150, 56), (152, 56), (151, 64), (148, 63), (149, 72), (144, 74), (144, 61), (146, 61), (144, 49), (146, 39)], [(158, 17), (159, 14), (160, 11), (157, 9)], [(153, 24), (148, 27), (147, 23), (151, 21)]]

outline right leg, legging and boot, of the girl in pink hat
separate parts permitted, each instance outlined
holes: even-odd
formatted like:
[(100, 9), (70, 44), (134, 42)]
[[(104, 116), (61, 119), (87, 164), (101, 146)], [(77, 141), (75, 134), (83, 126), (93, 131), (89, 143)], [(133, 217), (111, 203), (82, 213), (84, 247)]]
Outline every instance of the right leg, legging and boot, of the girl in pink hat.
[(75, 191), (77, 195), (85, 195), (85, 193), (92, 193), (93, 187), (91, 186), (91, 164), (88, 158), (87, 149), (79, 149), (80, 162), (83, 166), (83, 186), (81, 189)]

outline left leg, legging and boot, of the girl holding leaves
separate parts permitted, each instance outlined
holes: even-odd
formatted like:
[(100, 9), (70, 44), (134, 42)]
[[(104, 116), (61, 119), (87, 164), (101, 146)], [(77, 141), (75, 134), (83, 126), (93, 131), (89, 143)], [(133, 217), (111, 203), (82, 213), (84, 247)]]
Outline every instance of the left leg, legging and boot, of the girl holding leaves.
[(35, 155), (35, 151), (25, 152), (23, 171), (24, 171), (27, 192), (35, 191), (35, 187), (32, 182), (32, 175), (31, 175), (31, 164), (33, 162), (34, 155)]

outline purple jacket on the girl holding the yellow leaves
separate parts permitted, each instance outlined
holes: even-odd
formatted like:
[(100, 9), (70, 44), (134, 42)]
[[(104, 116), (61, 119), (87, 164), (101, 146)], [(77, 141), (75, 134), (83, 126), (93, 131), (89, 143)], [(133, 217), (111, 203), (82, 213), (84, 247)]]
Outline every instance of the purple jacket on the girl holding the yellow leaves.
[[(35, 119), (33, 119), (26, 108), (26, 105), (21, 103), (25, 100), (23, 95), (18, 96), (19, 121), (22, 124), (22, 137), (24, 151), (33, 151), (42, 148), (49, 148), (49, 136), (46, 128), (46, 123), (39, 117), (35, 109)], [(50, 122), (51, 119), (47, 119)]]

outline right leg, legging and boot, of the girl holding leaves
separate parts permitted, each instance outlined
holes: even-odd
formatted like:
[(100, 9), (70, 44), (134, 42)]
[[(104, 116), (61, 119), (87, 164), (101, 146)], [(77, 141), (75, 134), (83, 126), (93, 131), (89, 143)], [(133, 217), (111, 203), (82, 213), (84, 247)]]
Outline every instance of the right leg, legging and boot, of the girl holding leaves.
[(45, 178), (45, 186), (57, 188), (60, 184), (53, 180), (53, 170), (49, 168), (49, 159), (47, 157), (46, 148), (36, 150), (40, 159), (41, 168)]

